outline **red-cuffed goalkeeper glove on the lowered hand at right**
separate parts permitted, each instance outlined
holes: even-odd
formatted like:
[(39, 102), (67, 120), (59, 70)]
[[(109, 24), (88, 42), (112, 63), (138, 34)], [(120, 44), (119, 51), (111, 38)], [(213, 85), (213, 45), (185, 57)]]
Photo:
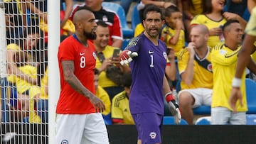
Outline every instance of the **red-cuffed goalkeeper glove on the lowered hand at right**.
[(165, 95), (166, 101), (168, 103), (169, 110), (174, 116), (175, 124), (181, 123), (181, 111), (178, 109), (178, 103), (175, 101), (174, 95), (169, 92)]

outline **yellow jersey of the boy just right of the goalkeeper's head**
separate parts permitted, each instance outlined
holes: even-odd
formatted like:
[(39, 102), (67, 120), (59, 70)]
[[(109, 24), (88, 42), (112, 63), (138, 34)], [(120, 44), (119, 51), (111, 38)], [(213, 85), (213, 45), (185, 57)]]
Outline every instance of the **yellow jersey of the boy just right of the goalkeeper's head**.
[(168, 34), (166, 36), (166, 40), (164, 41), (164, 43), (166, 43), (167, 47), (174, 48), (175, 56), (177, 57), (178, 52), (181, 52), (181, 50), (183, 50), (183, 48), (185, 47), (185, 33), (183, 30), (181, 30), (178, 37), (178, 42), (176, 43), (176, 45), (171, 45), (171, 43), (169, 43), (169, 40), (171, 40), (171, 38), (174, 37), (176, 30), (169, 28), (168, 26), (165, 26), (161, 33), (166, 32)]

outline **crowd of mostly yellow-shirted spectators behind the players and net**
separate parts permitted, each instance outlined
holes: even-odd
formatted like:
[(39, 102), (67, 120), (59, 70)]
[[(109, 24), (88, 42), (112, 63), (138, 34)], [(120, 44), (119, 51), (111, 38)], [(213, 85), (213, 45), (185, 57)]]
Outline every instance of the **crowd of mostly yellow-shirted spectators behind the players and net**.
[[(105, 2), (120, 4), (120, 1)], [(128, 1), (121, 0), (121, 4), (124, 2)], [(237, 107), (240, 114), (235, 116), (240, 117), (241, 123), (232, 123), (229, 119), (223, 120), (224, 123), (217, 121), (218, 118), (215, 117), (228, 113), (230, 118), (233, 118), (233, 109), (228, 104), (228, 97), (233, 86), (233, 77), (235, 77), (237, 55), (248, 23), (245, 15), (255, 16), (256, 1), (142, 0), (130, 2), (128, 6), (132, 2), (136, 3), (141, 21), (133, 29), (134, 37), (124, 38), (122, 21), (117, 11), (104, 7), (103, 0), (61, 0), (61, 41), (74, 36), (76, 26), (73, 23), (73, 16), (80, 7), (89, 7), (95, 15), (97, 37), (90, 41), (96, 50), (95, 94), (106, 106), (105, 111), (102, 111), (105, 124), (134, 124), (129, 110), (129, 94), (132, 89), (131, 69), (129, 64), (120, 64), (119, 55), (126, 50), (126, 47), (133, 45), (139, 35), (143, 35), (145, 31), (143, 12), (152, 4), (161, 7), (164, 14), (162, 17), (164, 25), (161, 28), (159, 40), (164, 42), (167, 48), (165, 74), (171, 92), (178, 102), (182, 118), (188, 124), (194, 124), (198, 117), (193, 116), (193, 108), (213, 104), (212, 110), (215, 114), (213, 124), (245, 124), (246, 99), (242, 101), (243, 106)], [(127, 3), (122, 6), (126, 6), (123, 8), (126, 16), (129, 9), (134, 9), (133, 7), (128, 9)], [(9, 106), (11, 109), (18, 110), (14, 114), (17, 118), (11, 121), (48, 123), (46, 1), (4, 0), (4, 7), (8, 86), (11, 87), (9, 97), (12, 99)], [(156, 30), (154, 26), (150, 29), (150, 31)], [(125, 39), (131, 43), (124, 44)], [(235, 57), (231, 60), (232, 62), (228, 63), (227, 61), (230, 60), (228, 58), (233, 55)], [(256, 60), (255, 54), (252, 54), (252, 60)], [(247, 66), (250, 70), (244, 73), (242, 79), (244, 80), (245, 77), (254, 79), (252, 77), (252, 73), (255, 72), (254, 61), (251, 66)], [(230, 73), (225, 71), (227, 67)], [(223, 82), (220, 77), (228, 78)], [(242, 94), (245, 95), (244, 85), (242, 87)], [(220, 92), (222, 90), (225, 91), (224, 94)], [(226, 99), (220, 95), (225, 96)], [(171, 116), (169, 104), (165, 100), (163, 102), (164, 116)], [(223, 109), (218, 108), (223, 108), (225, 113), (222, 113)]]

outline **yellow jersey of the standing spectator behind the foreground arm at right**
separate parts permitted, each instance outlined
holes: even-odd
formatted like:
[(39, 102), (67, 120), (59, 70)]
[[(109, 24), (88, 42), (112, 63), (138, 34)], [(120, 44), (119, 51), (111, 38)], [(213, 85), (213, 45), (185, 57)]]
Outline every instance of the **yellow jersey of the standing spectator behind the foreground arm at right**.
[[(238, 50), (230, 50), (225, 45), (216, 45), (213, 48), (211, 58), (213, 65), (213, 97), (212, 107), (222, 106), (230, 108), (228, 100), (232, 89), (232, 80), (235, 77), (235, 68), (238, 62)], [(238, 111), (247, 111), (246, 93), (245, 93), (245, 72), (242, 75), (242, 84), (240, 87), (242, 92), (242, 104), (237, 104)]]

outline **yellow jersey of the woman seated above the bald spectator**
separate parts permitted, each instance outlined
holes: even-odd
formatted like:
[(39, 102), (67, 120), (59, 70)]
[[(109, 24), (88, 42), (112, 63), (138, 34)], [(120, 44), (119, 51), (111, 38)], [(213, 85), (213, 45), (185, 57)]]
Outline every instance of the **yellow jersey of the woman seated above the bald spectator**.
[[(200, 14), (193, 18), (193, 20), (191, 21), (191, 25), (203, 24), (210, 30), (212, 28), (219, 28), (220, 26), (223, 26), (225, 22), (226, 22), (225, 18), (221, 19), (220, 21), (213, 21), (210, 18), (208, 18), (206, 15)], [(220, 43), (220, 36), (218, 35), (209, 36), (208, 45), (210, 46), (210, 48), (213, 48), (215, 45), (218, 45), (218, 43)]]

